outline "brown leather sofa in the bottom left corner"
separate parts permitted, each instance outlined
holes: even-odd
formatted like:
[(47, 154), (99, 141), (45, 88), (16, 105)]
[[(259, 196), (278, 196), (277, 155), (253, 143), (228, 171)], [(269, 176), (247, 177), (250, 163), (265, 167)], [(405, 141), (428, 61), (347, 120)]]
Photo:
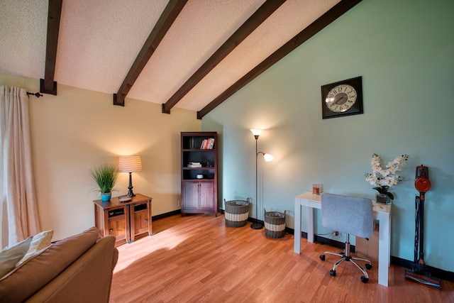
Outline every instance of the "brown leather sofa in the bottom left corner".
[(52, 243), (0, 280), (0, 302), (109, 302), (115, 237), (98, 229)]

